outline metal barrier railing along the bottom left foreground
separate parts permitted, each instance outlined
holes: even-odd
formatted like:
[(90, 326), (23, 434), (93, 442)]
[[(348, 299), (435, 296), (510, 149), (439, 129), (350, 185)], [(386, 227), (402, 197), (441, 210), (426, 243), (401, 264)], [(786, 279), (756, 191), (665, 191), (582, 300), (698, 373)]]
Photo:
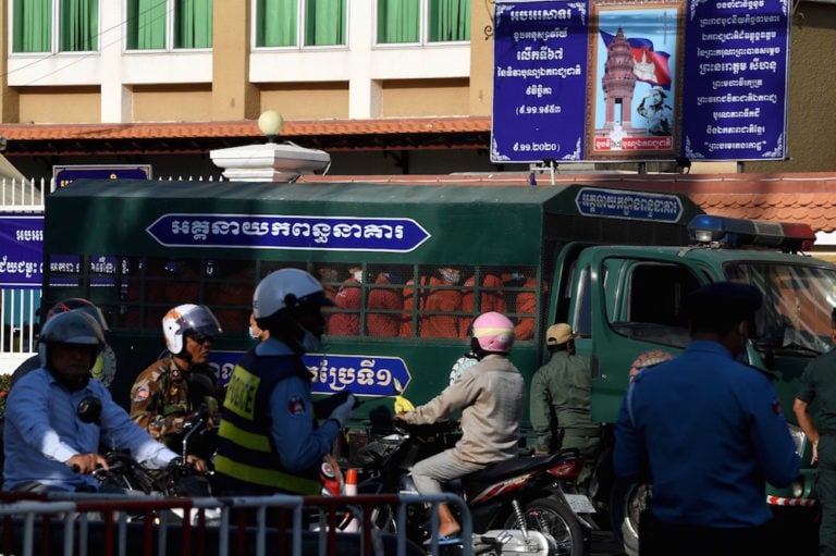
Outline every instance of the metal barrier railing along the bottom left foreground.
[[(22, 556), (414, 556), (425, 549), (406, 538), (407, 507), (430, 505), (437, 530), (442, 503), (457, 506), (462, 538), (472, 538), (467, 505), (448, 493), (187, 498), (3, 492), (1, 496), (0, 548)], [(374, 508), (384, 505), (396, 508), (395, 531), (380, 531), (372, 521)], [(306, 520), (310, 510), (317, 510), (318, 520)], [(220, 511), (220, 517), (210, 519), (212, 511)], [(359, 521), (357, 532), (340, 530), (346, 512)], [(438, 536), (429, 546), (439, 554)], [(463, 544), (462, 554), (472, 554), (469, 542)]]

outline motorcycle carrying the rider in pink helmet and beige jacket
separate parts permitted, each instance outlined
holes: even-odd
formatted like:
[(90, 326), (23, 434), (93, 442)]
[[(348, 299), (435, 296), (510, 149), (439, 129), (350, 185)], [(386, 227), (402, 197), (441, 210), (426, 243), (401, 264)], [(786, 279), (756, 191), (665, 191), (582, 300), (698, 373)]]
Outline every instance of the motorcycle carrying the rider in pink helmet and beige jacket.
[[(457, 429), (454, 421), (413, 425), (395, 420), (390, 433), (381, 433), (358, 448), (344, 467), (357, 469), (359, 494), (418, 494), (409, 469), (452, 447), (460, 435)], [(582, 466), (577, 450), (568, 450), (514, 458), (462, 478), (452, 486), (453, 492), (466, 502), (474, 531), (484, 531), (474, 534), (474, 552), (497, 556), (586, 554), (590, 530), (573, 510), (560, 484), (577, 479)], [(587, 504), (586, 509), (591, 509)], [(397, 531), (394, 507), (376, 508), (371, 519), (383, 532)], [(409, 506), (409, 540), (418, 545), (427, 543), (431, 539), (429, 507)]]

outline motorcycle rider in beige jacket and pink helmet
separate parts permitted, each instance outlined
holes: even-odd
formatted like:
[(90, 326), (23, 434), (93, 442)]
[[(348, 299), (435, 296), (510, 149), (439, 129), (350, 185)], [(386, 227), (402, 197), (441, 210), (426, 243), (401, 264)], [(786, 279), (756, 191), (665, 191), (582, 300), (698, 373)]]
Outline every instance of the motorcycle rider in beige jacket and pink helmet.
[[(442, 483), (490, 464), (517, 457), (526, 386), (508, 360), (514, 323), (499, 312), (485, 312), (472, 323), (470, 347), (478, 363), (429, 403), (396, 417), (411, 424), (433, 423), (462, 410), (462, 438), (453, 448), (413, 467), (421, 494), (441, 494)], [(446, 504), (439, 505), (439, 544), (458, 544), (460, 526)]]

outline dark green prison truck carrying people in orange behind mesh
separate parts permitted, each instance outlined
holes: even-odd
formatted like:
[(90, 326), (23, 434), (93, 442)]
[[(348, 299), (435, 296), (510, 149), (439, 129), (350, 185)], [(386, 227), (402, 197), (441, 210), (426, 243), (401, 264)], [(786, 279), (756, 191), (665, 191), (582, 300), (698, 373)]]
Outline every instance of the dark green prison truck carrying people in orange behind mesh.
[[(804, 366), (829, 348), (836, 267), (801, 254), (813, 239), (803, 225), (703, 214), (679, 194), (585, 184), (78, 180), (46, 200), (42, 307), (85, 297), (104, 311), (111, 391), (127, 406), (135, 376), (164, 349), (170, 308), (205, 304), (218, 316), (212, 365), (225, 381), (254, 346), (259, 280), (305, 269), (348, 298), (328, 313), (325, 353), (306, 362), (316, 394), (364, 400), (358, 424), (391, 415), (398, 384), (415, 404), (447, 386), (482, 310), (516, 323), (512, 359), (527, 380), (544, 361), (545, 329), (568, 322), (592, 358), (593, 419), (612, 423), (630, 369), (688, 342), (684, 296), (736, 280), (764, 293), (748, 356), (774, 375), (788, 410)], [(810, 472), (771, 499), (810, 504)]]

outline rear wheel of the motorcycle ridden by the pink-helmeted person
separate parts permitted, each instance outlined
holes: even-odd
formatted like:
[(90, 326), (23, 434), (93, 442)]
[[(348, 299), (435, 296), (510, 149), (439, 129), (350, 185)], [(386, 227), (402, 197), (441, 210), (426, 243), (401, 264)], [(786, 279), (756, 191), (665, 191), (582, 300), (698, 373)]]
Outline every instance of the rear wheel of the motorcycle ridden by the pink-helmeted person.
[[(522, 518), (529, 530), (539, 531), (549, 539), (550, 555), (583, 556), (583, 529), (565, 504), (552, 498), (539, 498), (522, 507)], [(505, 529), (517, 529), (514, 514), (505, 520)]]

